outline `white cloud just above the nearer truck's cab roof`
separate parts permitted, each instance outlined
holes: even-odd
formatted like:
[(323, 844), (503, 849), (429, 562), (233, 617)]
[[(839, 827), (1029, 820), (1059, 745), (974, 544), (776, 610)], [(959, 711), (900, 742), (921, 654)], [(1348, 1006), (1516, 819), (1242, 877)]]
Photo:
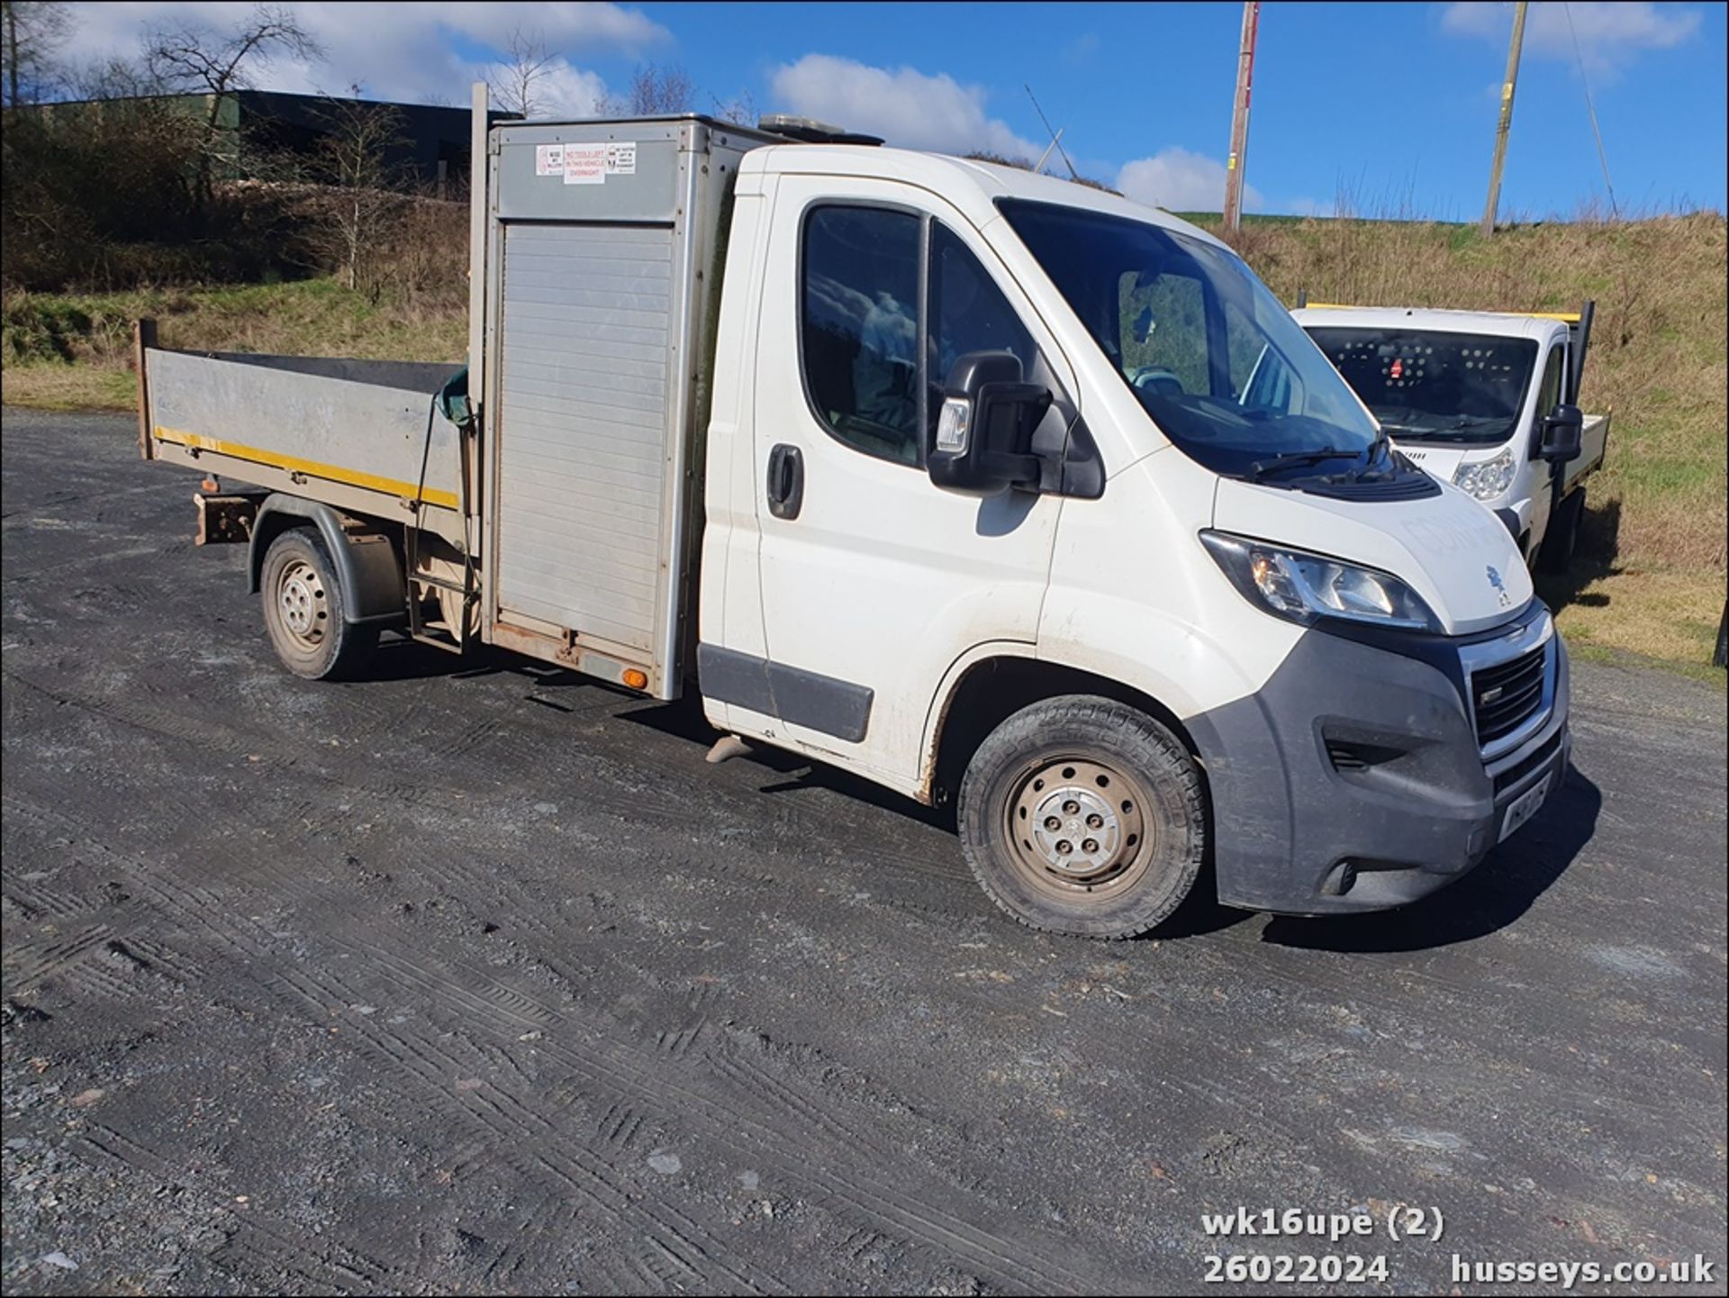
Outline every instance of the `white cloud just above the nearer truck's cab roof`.
[(946, 73), (889, 71), (830, 54), (807, 54), (776, 67), (769, 86), (792, 112), (870, 131), (906, 149), (987, 150), (1029, 161), (1043, 152), (1015, 135), (1008, 123), (986, 116), (982, 86), (963, 86)]

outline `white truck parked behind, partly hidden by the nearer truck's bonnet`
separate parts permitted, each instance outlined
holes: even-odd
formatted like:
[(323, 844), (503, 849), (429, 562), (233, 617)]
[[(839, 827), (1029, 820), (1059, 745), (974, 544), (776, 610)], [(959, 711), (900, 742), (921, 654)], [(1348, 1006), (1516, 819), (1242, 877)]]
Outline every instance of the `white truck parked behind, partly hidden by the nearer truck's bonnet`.
[(1594, 304), (1579, 313), (1309, 302), (1293, 311), (1406, 458), (1492, 510), (1525, 562), (1563, 572), (1610, 417), (1582, 415)]

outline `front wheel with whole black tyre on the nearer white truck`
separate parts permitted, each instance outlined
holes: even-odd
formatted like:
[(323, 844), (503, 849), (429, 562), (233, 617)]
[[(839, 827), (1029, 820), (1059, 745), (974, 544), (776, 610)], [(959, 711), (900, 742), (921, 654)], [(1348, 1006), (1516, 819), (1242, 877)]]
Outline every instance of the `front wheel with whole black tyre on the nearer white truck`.
[(1200, 769), (1124, 703), (1065, 695), (998, 726), (956, 807), (979, 887), (1029, 928), (1124, 939), (1164, 921), (1207, 850)]

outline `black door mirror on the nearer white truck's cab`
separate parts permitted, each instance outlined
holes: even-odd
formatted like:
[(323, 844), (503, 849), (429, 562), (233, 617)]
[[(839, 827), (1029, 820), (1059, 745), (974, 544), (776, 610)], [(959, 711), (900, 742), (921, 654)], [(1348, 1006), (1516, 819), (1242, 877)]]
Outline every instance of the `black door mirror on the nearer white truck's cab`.
[(1013, 353), (967, 353), (954, 361), (942, 391), (937, 432), (925, 455), (930, 480), (980, 493), (1037, 486), (1032, 430), (1050, 404), (1050, 391), (1024, 380)]

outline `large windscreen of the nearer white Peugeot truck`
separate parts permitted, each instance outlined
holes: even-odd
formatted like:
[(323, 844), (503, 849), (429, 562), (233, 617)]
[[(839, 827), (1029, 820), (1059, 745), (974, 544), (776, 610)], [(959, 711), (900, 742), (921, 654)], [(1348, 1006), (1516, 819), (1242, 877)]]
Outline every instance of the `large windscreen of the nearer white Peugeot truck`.
[[(1338, 372), (1240, 258), (1120, 216), (1003, 214), (1146, 411), (1217, 474), (1335, 475), (1385, 455)], [(1378, 465), (1383, 467), (1383, 465)]]

